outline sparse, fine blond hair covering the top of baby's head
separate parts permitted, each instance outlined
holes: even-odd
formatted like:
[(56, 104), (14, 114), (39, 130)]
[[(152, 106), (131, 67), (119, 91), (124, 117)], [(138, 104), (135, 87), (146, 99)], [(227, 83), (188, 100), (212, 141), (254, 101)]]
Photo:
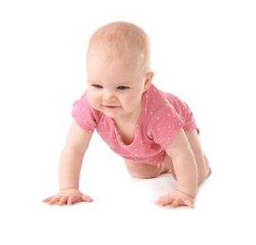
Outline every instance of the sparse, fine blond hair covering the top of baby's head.
[(138, 54), (145, 73), (149, 72), (150, 41), (145, 31), (136, 24), (112, 22), (94, 32), (88, 43), (87, 57), (88, 54), (104, 55), (111, 59), (127, 57), (131, 50)]

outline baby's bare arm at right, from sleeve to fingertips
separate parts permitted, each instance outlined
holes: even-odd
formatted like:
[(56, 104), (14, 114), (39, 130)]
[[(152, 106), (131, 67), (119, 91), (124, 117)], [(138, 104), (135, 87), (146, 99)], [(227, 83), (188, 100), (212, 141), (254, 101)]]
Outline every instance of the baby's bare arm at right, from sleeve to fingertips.
[[(193, 207), (193, 200), (197, 190), (196, 159), (181, 129), (176, 138), (166, 147), (165, 152), (172, 159), (173, 169), (177, 178), (177, 190), (163, 195), (157, 201), (160, 205), (187, 205)], [(168, 168), (168, 166), (166, 166)]]

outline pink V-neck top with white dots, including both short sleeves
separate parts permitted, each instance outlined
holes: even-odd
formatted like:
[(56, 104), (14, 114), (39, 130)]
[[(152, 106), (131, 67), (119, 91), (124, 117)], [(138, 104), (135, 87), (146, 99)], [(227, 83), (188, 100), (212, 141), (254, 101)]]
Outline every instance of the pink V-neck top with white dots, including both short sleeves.
[(151, 85), (142, 100), (135, 137), (128, 145), (118, 135), (113, 120), (90, 106), (86, 91), (75, 101), (72, 116), (85, 131), (94, 133), (96, 129), (114, 153), (133, 161), (155, 165), (163, 161), (164, 148), (181, 128), (185, 132), (195, 128), (198, 132), (198, 128), (189, 106), (176, 96)]

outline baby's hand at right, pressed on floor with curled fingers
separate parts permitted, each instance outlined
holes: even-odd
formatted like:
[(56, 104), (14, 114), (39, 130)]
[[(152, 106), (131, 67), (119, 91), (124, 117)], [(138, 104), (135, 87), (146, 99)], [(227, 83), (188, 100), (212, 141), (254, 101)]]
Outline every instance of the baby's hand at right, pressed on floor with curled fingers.
[(178, 207), (179, 205), (186, 205), (193, 208), (194, 198), (190, 195), (187, 195), (179, 190), (176, 190), (170, 194), (163, 195), (159, 198), (156, 204), (159, 205), (170, 205), (170, 207)]

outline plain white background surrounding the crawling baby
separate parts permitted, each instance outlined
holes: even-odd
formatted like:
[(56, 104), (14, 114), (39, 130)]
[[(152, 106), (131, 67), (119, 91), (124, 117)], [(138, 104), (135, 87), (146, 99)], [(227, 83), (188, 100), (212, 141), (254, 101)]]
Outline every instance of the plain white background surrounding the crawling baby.
[[(1, 244), (255, 244), (254, 1), (1, 1)], [(159, 207), (170, 174), (132, 179), (94, 134), (81, 172), (92, 204), (49, 206), (93, 31), (143, 27), (154, 83), (187, 102), (213, 174), (195, 208)]]

